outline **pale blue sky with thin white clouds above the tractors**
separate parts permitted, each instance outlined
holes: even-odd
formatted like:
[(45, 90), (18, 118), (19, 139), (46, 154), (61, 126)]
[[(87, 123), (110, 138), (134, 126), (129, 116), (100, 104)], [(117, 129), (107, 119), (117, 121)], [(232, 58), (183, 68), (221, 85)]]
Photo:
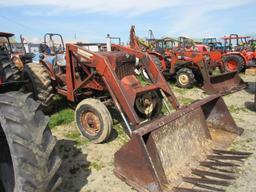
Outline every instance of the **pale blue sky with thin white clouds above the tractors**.
[(65, 42), (103, 42), (107, 34), (126, 42), (136, 34), (156, 38), (254, 34), (256, 0), (0, 0), (0, 31), (41, 42), (47, 32)]

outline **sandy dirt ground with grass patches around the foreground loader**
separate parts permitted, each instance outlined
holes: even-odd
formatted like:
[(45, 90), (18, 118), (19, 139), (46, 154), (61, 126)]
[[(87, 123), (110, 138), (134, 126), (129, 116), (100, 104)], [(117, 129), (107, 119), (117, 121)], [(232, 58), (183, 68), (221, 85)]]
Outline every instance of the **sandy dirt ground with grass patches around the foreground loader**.
[[(231, 146), (233, 149), (254, 152), (239, 168), (239, 178), (227, 188), (228, 192), (256, 191), (256, 112), (252, 111), (255, 90), (255, 76), (241, 75), (249, 82), (246, 90), (224, 97), (224, 100), (239, 127), (244, 133)], [(171, 85), (175, 95), (183, 104), (207, 97), (202, 90), (193, 88), (179, 89)], [(255, 108), (254, 108), (255, 109)], [(92, 144), (80, 136), (75, 123), (53, 129), (58, 139), (58, 151), (64, 162), (61, 168), (63, 185), (59, 192), (133, 192), (131, 187), (113, 174), (114, 153), (128, 141), (128, 137), (114, 118), (114, 131), (104, 144)]]

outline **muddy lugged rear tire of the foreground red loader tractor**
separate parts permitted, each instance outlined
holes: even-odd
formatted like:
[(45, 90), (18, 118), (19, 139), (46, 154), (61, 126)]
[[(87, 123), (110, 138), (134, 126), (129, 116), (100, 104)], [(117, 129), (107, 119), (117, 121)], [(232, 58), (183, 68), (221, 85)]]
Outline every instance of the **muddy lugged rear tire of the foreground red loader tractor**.
[(25, 92), (32, 92), (35, 100), (40, 101), (45, 109), (49, 108), (54, 90), (46, 67), (40, 63), (29, 63), (23, 70), (22, 79), (29, 80), (24, 86)]

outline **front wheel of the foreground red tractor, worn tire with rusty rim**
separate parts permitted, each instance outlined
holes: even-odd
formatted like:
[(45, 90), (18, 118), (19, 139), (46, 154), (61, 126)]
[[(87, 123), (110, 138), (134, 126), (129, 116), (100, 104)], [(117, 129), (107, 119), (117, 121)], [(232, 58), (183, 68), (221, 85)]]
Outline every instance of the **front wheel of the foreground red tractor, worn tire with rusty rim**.
[[(82, 119), (87, 121), (83, 123)], [(75, 120), (81, 134), (93, 143), (102, 143), (111, 134), (113, 120), (107, 107), (100, 100), (82, 100), (76, 107)], [(89, 120), (93, 125), (89, 125)]]

